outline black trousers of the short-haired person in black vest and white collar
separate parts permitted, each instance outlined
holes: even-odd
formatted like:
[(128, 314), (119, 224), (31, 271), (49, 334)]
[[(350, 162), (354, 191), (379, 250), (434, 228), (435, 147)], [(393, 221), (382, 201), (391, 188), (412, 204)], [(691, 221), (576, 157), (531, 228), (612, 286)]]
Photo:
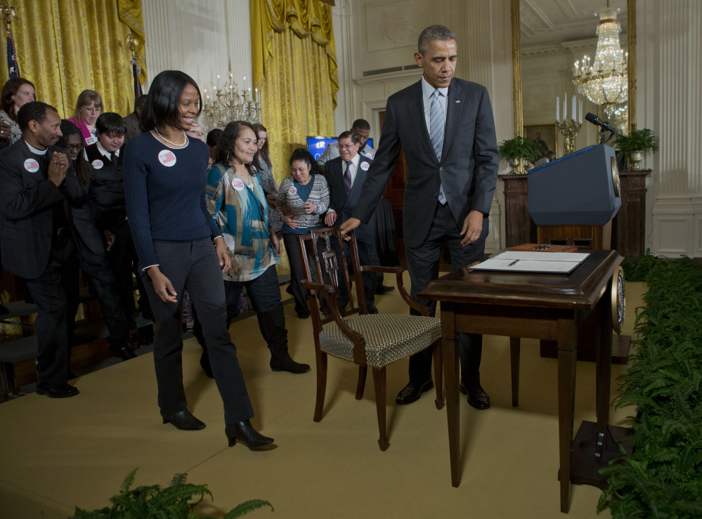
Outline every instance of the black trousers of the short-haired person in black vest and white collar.
[(139, 258), (134, 248), (134, 240), (131, 237), (131, 228), (126, 220), (121, 224), (109, 225), (108, 230), (115, 235), (115, 243), (108, 251), (110, 267), (115, 275), (117, 287), (119, 287), (119, 297), (122, 299), (122, 309), (124, 315), (129, 320), (136, 311), (134, 306), (134, 285), (131, 275), (136, 276), (136, 283), (139, 289), (139, 308), (141, 313), (147, 315), (151, 313), (149, 298), (144, 291), (143, 279), (139, 272)]

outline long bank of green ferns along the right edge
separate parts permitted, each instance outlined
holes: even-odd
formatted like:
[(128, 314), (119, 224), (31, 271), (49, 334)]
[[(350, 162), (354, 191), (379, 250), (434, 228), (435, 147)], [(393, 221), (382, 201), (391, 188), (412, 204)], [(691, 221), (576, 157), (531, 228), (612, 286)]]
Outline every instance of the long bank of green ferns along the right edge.
[(602, 469), (609, 487), (598, 510), (612, 517), (702, 516), (702, 269), (689, 258), (650, 254), (646, 307), (637, 309), (634, 362), (619, 377), (615, 406), (637, 405), (633, 453)]

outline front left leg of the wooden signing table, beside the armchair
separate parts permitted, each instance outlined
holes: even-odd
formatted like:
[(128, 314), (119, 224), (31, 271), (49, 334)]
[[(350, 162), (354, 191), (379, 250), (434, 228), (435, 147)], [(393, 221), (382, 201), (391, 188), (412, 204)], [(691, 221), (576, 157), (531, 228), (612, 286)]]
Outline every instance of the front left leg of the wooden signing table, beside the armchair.
[(455, 327), (453, 304), (441, 302), (441, 336), (443, 341), (443, 374), (446, 383), (446, 416), (448, 418), (448, 451), (451, 458), (451, 485), (460, 485), (459, 475), (459, 419), (458, 407), (458, 335)]

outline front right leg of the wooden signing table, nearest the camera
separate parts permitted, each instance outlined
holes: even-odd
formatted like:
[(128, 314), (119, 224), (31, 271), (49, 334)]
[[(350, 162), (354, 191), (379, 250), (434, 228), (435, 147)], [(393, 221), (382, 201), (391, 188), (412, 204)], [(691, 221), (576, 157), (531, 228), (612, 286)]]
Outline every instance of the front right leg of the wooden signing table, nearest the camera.
[(578, 329), (574, 319), (558, 320), (558, 443), (561, 512), (571, 508), (571, 444), (575, 407)]

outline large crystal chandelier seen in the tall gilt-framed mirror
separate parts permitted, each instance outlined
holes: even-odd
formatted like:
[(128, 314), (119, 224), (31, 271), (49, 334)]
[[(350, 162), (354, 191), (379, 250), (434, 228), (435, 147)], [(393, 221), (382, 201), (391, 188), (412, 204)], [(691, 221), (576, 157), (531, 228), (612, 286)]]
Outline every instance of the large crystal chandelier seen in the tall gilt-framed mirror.
[(628, 98), (628, 72), (626, 57), (619, 45), (621, 25), (617, 20), (619, 9), (607, 6), (598, 11), (597, 51), (590, 65), (590, 58), (583, 63), (576, 61), (573, 69), (573, 84), (592, 103), (604, 105), (604, 112), (612, 117), (617, 103)]

